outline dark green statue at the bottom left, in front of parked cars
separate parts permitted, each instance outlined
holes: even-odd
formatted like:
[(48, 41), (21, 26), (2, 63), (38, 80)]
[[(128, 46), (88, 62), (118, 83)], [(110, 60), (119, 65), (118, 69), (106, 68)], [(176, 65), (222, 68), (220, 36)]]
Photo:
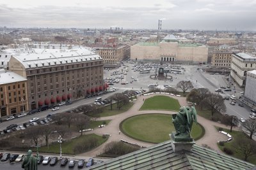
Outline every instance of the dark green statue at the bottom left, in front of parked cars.
[(37, 170), (37, 159), (38, 154), (37, 157), (34, 157), (32, 151), (28, 150), (28, 154), (24, 157), (21, 167), (25, 170)]

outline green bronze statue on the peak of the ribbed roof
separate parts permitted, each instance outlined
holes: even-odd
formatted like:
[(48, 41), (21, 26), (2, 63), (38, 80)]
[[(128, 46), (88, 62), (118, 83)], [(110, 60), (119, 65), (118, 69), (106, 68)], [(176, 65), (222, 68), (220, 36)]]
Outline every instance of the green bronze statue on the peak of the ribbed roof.
[(172, 115), (172, 122), (174, 124), (176, 134), (182, 138), (190, 138), (190, 132), (192, 129), (193, 122), (197, 123), (196, 110), (194, 106), (180, 108), (179, 113)]

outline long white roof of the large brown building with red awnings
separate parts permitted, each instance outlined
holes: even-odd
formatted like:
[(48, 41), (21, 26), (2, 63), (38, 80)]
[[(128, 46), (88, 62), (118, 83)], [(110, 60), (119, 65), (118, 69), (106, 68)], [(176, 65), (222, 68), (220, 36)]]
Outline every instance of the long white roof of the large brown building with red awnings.
[(43, 49), (33, 48), (24, 52), (14, 53), (13, 57), (19, 60), (25, 68), (54, 66), (102, 59), (99, 55), (86, 50), (77, 49)]

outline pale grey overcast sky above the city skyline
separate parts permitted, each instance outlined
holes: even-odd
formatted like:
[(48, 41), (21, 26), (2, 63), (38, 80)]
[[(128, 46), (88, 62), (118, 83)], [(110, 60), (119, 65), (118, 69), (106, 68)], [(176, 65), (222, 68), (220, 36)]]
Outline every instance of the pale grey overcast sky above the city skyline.
[(256, 0), (0, 0), (0, 26), (253, 30)]

